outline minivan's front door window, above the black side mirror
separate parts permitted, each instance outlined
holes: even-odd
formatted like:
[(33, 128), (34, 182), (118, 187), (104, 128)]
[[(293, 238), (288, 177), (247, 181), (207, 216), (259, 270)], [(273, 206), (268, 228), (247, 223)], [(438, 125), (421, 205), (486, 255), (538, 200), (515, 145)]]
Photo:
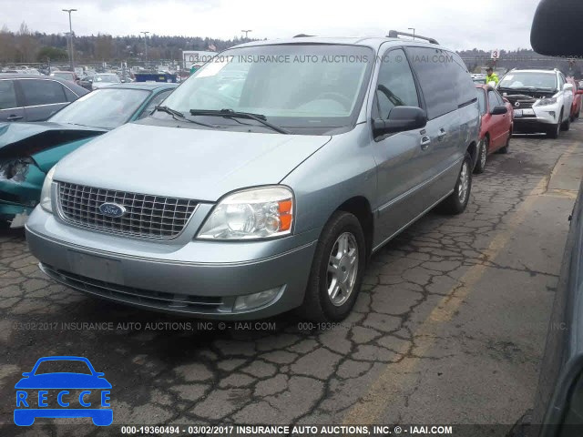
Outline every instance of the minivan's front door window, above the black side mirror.
[(381, 118), (388, 118), (394, 107), (419, 107), (413, 72), (402, 49), (391, 50), (383, 56), (376, 104)]

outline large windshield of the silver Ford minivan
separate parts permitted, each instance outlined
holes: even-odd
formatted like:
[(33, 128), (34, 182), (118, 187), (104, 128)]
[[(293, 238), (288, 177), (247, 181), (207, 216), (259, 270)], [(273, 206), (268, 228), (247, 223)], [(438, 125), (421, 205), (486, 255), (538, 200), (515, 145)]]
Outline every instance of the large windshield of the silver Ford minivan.
[(184, 114), (190, 109), (261, 114), (281, 127), (345, 127), (361, 105), (372, 61), (373, 51), (363, 46), (231, 49), (202, 66), (165, 103)]

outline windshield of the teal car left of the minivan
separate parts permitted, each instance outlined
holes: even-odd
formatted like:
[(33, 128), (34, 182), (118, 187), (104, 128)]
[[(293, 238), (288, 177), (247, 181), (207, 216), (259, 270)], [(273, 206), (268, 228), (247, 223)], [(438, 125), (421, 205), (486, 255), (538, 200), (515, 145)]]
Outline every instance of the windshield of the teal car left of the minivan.
[(64, 107), (48, 121), (113, 129), (127, 123), (148, 95), (143, 89), (97, 89)]

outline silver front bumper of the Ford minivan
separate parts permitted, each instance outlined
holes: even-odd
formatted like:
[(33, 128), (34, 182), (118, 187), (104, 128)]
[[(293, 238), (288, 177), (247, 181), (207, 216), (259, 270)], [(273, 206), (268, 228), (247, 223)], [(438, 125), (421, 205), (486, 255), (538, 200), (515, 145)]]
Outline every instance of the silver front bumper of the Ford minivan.
[[(151, 310), (230, 320), (271, 317), (301, 305), (318, 233), (165, 245), (77, 229), (40, 207), (26, 223), (32, 254), (58, 282)], [(238, 298), (264, 291), (273, 298), (235, 309)]]

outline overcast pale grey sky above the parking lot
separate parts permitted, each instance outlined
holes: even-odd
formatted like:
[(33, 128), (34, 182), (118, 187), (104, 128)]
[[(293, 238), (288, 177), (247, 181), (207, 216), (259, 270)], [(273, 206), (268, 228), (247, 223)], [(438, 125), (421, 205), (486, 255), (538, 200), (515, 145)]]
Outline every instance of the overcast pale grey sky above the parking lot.
[(76, 35), (209, 36), (230, 39), (384, 36), (390, 29), (431, 36), (455, 50), (530, 48), (538, 0), (0, 0), (0, 26), (68, 32), (61, 9), (77, 8)]

